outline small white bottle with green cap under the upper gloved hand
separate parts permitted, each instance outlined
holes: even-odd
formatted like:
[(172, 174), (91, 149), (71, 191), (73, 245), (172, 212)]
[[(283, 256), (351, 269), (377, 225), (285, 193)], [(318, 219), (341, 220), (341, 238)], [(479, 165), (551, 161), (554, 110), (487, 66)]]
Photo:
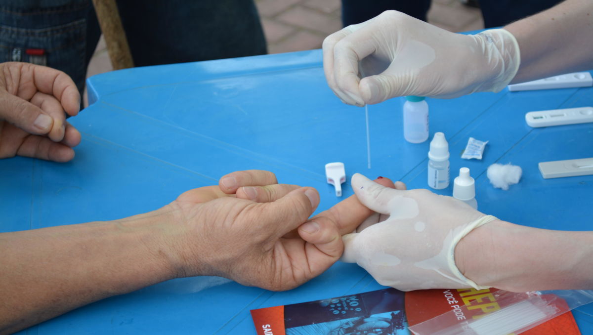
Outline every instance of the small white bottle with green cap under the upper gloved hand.
[(404, 138), (410, 143), (428, 139), (428, 104), (424, 97), (408, 95), (404, 103)]

